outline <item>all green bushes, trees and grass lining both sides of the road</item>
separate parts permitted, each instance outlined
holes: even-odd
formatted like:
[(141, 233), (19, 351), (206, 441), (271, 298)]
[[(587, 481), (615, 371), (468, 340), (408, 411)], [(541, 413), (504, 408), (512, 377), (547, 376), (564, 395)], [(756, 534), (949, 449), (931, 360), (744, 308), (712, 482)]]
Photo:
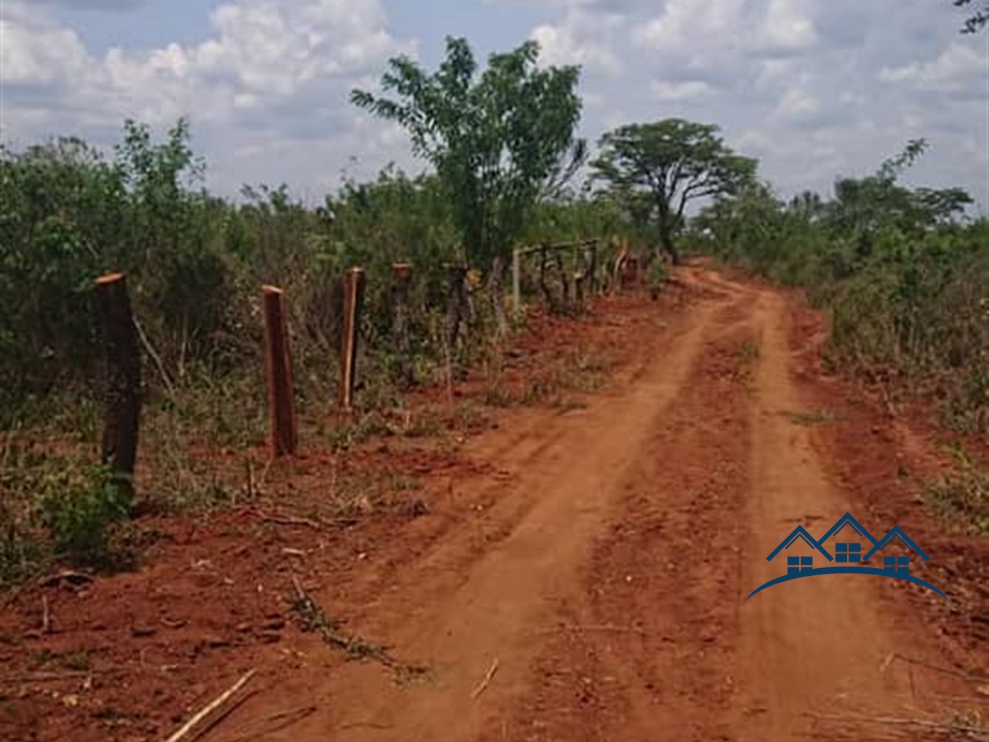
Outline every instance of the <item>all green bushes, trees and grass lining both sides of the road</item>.
[[(128, 121), (109, 152), (71, 137), (0, 145), (0, 585), (52, 560), (113, 563), (112, 543), (135, 511), (236, 501), (243, 472), (219, 472), (193, 452), (264, 442), (262, 284), (288, 298), (307, 434), (345, 450), (396, 429), (469, 426), (477, 411), (412, 422), (404, 408), (397, 262), (413, 266), (417, 385), (450, 385), (474, 367), (490, 377), (492, 407), (578, 404), (568, 390), (597, 383), (596, 359), (523, 390), (500, 384), (503, 340), (525, 322), (506, 312), (504, 284), (515, 246), (599, 239), (600, 275), (629, 242), (654, 298), (669, 277), (664, 258), (678, 262), (683, 248), (806, 287), (833, 315), (832, 363), (878, 383), (909, 379), (939, 399), (949, 424), (989, 439), (989, 224), (962, 218), (971, 199), (961, 190), (899, 184), (925, 142), (871, 177), (837, 181), (831, 200), (808, 193), (784, 202), (714, 125), (620, 127), (591, 158), (576, 135), (580, 70), (540, 66), (538, 55), (526, 43), (482, 69), (466, 41), (450, 39), (435, 71), (392, 60), (386, 96), (355, 90), (352, 103), (403, 126), (427, 170), (386, 167), (370, 182), (344, 182), (315, 208), (286, 185), (244, 186), (238, 200), (210, 194), (185, 120), (160, 139)], [(690, 219), (695, 200), (707, 205)], [(554, 291), (567, 291), (586, 268), (581, 259), (557, 260), (553, 280), (563, 286)], [(469, 269), (462, 332), (450, 327), (451, 264)], [(357, 410), (327, 422), (343, 275), (354, 265), (367, 277)], [(522, 291), (537, 300), (548, 289), (534, 268), (527, 263)], [(116, 271), (128, 275), (144, 357), (136, 501), (94, 455), (103, 350), (93, 279)]]

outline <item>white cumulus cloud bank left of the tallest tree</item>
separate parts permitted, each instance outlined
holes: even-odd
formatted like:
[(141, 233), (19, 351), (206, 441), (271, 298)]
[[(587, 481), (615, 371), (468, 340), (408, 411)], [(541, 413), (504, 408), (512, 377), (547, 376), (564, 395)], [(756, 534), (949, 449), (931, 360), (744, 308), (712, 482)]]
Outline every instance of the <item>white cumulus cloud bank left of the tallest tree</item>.
[(375, 87), (389, 56), (415, 50), (390, 35), (378, 0), (235, 0), (213, 11), (199, 44), (101, 56), (36, 6), (5, 0), (0, 24), (5, 139), (99, 137), (125, 118), (165, 126), (188, 116), (227, 192), (239, 186), (234, 173), (326, 182), (348, 153), (387, 161), (405, 150), (348, 102), (352, 87)]

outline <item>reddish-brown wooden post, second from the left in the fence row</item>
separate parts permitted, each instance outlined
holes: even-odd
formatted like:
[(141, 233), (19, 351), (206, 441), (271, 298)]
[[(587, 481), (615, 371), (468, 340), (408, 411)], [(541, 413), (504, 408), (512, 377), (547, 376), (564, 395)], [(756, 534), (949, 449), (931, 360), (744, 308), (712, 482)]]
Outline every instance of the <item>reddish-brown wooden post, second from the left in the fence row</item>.
[(295, 388), (292, 384), (292, 352), (285, 317), (285, 292), (262, 286), (264, 305), (264, 361), (268, 371), (268, 445), (272, 458), (292, 456), (299, 446)]

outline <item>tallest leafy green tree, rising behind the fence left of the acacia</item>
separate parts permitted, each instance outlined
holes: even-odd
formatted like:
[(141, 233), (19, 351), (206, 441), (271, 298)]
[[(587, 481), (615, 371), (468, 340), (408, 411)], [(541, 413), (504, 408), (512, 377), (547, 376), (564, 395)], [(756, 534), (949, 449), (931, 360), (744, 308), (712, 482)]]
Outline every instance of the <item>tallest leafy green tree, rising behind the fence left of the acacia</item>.
[(583, 161), (580, 69), (539, 68), (527, 42), (478, 64), (464, 39), (447, 38), (446, 58), (426, 73), (405, 56), (389, 61), (381, 84), (396, 98), (354, 90), (351, 101), (401, 124), (413, 152), (443, 184), (468, 258), (484, 267), (506, 257), (540, 196)]

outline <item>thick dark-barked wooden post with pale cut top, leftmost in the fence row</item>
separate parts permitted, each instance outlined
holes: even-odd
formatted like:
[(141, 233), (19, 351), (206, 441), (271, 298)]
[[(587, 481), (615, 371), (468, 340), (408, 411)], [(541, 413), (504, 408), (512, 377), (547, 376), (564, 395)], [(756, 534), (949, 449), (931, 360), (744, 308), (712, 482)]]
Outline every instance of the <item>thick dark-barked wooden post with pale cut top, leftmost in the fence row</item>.
[(96, 295), (107, 359), (101, 460), (113, 470), (117, 487), (133, 496), (140, 427), (140, 353), (127, 277), (111, 273), (97, 278)]

